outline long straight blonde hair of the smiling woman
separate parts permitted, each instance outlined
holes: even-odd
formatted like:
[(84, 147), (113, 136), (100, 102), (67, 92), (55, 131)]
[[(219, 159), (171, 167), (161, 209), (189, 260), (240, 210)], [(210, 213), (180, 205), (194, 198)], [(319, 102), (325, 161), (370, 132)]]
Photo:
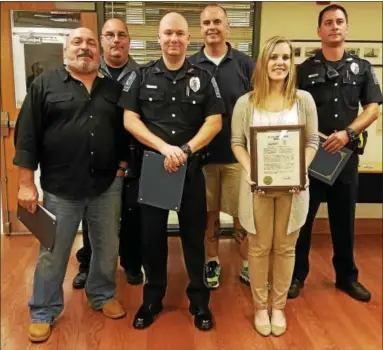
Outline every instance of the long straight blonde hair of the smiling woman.
[(255, 65), (253, 76), (251, 77), (253, 91), (250, 93), (250, 101), (257, 109), (265, 109), (266, 98), (270, 93), (270, 78), (267, 64), (275, 46), (280, 43), (286, 43), (290, 47), (290, 71), (284, 84), (285, 108), (291, 108), (296, 101), (296, 68), (294, 64), (293, 46), (291, 45), (291, 42), (284, 37), (273, 36), (263, 44), (262, 50), (258, 56), (257, 64)]

